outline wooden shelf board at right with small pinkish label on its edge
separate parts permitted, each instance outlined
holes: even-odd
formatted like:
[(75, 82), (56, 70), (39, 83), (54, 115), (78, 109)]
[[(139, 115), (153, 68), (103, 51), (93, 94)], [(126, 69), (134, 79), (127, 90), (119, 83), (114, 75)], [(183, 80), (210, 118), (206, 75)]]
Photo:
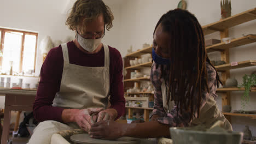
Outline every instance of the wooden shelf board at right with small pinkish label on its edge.
[(249, 61), (238, 62), (238, 64), (234, 65), (234, 66), (231, 66), (231, 64), (223, 64), (223, 65), (215, 66), (215, 68), (218, 71), (224, 71), (224, 70), (230, 70), (230, 69), (251, 67), (251, 66), (254, 66), (254, 65), (256, 65), (256, 61), (249, 60)]

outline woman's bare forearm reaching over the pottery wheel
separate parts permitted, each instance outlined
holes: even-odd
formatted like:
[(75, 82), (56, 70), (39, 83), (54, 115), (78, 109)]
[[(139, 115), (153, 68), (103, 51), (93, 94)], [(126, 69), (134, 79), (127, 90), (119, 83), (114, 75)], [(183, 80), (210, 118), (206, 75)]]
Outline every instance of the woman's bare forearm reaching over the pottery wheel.
[(138, 138), (170, 136), (168, 125), (160, 124), (158, 121), (125, 124), (122, 132), (123, 136)]

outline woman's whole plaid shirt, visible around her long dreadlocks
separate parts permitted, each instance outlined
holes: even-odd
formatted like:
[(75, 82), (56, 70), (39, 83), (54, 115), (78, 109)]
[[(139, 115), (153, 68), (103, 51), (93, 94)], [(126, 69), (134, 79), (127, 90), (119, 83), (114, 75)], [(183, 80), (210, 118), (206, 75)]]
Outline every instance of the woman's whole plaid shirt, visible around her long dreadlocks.
[[(162, 67), (162, 71), (161, 71)], [(216, 71), (214, 68), (209, 64), (206, 63), (206, 70), (207, 70), (207, 76), (208, 76), (208, 87), (210, 92), (202, 91), (202, 99), (201, 99), (201, 106), (200, 109), (206, 104), (206, 101), (210, 98), (210, 96), (216, 98), (218, 95), (216, 94), (217, 91), (217, 80), (216, 80)], [(167, 124), (170, 127), (189, 127), (191, 121), (197, 117), (197, 110), (194, 109), (193, 118), (191, 121), (190, 119), (190, 112), (183, 110), (183, 113), (180, 112), (177, 113), (177, 105), (174, 104), (173, 109), (170, 110), (170, 113), (166, 113), (164, 110), (164, 105), (162, 103), (162, 91), (161, 91), (161, 84), (163, 82), (163, 78), (160, 77), (162, 75), (162, 72), (165, 72), (166, 75), (168, 74), (168, 69), (166, 65), (159, 65), (156, 63), (153, 63), (151, 68), (151, 74), (150, 79), (154, 86), (154, 110), (152, 115), (158, 115), (160, 118), (158, 118), (158, 122), (162, 124)], [(196, 97), (195, 97), (196, 98)], [(195, 105), (196, 107), (196, 105)]]

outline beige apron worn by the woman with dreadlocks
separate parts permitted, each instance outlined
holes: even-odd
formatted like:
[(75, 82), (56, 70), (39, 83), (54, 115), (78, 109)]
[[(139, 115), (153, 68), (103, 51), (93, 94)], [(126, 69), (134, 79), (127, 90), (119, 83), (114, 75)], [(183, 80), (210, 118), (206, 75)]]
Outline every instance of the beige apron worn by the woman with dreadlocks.
[[(169, 101), (169, 106), (166, 103), (167, 99), (165, 91), (165, 81), (162, 82), (161, 89), (164, 110), (166, 113), (170, 113), (170, 111), (173, 108), (174, 102)], [(211, 128), (211, 126), (217, 121), (221, 121), (224, 123), (224, 129), (232, 130), (232, 126), (229, 123), (229, 121), (224, 117), (223, 113), (219, 111), (216, 101), (214, 100), (214, 97), (210, 96), (210, 98), (206, 101), (206, 104), (203, 107), (201, 107), (199, 118), (193, 119), (190, 127), (194, 127), (196, 125), (205, 125), (206, 128)]]

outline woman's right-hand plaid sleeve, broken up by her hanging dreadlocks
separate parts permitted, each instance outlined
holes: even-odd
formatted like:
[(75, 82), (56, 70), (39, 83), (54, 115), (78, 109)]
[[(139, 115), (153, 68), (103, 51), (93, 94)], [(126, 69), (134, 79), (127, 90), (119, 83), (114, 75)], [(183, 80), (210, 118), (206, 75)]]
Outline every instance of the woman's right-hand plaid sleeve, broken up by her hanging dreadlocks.
[[(210, 92), (202, 92), (202, 101), (200, 109), (206, 104), (206, 101), (212, 96), (215, 99), (217, 98), (217, 81), (216, 81), (216, 71), (211, 67), (210, 64), (206, 65), (207, 68), (207, 77), (208, 77), (208, 87)], [(195, 106), (196, 107), (196, 106)], [(170, 127), (189, 127), (191, 121), (197, 117), (197, 110), (195, 109), (193, 118), (189, 121), (190, 112), (183, 110), (183, 113), (177, 113), (177, 105), (174, 105), (170, 113), (167, 113), (166, 117), (158, 118), (158, 122), (162, 124), (167, 124)]]

